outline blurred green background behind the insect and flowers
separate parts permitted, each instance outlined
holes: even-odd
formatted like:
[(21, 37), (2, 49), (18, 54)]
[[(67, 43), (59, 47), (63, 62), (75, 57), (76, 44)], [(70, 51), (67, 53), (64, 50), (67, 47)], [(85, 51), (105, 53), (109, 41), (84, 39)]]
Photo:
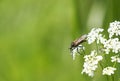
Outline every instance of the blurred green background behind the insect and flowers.
[(0, 81), (106, 81), (81, 75), (68, 48), (115, 20), (120, 0), (0, 0)]

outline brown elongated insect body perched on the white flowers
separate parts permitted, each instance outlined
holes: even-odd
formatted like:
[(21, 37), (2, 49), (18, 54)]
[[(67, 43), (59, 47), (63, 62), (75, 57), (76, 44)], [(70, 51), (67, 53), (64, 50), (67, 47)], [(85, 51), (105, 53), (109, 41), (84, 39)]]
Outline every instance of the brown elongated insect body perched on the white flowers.
[(72, 51), (74, 48), (78, 47), (81, 43), (85, 42), (87, 35), (83, 35), (80, 38), (76, 39), (71, 43), (70, 50)]

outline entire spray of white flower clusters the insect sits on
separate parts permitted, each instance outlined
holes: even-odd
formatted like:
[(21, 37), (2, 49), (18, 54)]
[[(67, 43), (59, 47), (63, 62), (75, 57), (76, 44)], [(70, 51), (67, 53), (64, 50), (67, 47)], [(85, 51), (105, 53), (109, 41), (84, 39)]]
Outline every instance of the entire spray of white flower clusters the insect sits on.
[[(86, 73), (88, 76), (93, 77), (95, 70), (98, 68), (99, 61), (101, 61), (102, 63), (102, 61), (104, 61), (102, 59), (106, 59), (106, 57), (104, 57), (105, 54), (106, 56), (108, 54), (113, 54), (113, 55), (110, 55), (111, 61), (109, 61), (109, 62), (113, 62), (111, 63), (113, 64), (113, 66), (108, 65), (105, 68), (101, 66), (102, 74), (110, 76), (114, 74), (115, 70), (117, 70), (116, 64), (120, 63), (120, 57), (119, 57), (120, 39), (118, 37), (120, 36), (120, 22), (115, 21), (110, 23), (110, 26), (108, 28), (108, 34), (109, 34), (108, 39), (105, 38), (105, 35), (103, 35), (103, 31), (104, 29), (102, 28), (93, 28), (87, 34), (86, 41), (88, 45), (92, 43), (96, 43), (97, 49), (91, 51), (90, 54), (84, 55), (85, 62), (83, 64), (83, 70), (81, 72), (82, 74)], [(100, 48), (98, 44), (101, 46)], [(76, 53), (78, 53), (78, 50), (81, 50), (81, 49), (83, 50), (83, 46), (81, 45), (73, 49), (72, 51), (73, 59), (75, 59), (75, 56), (76, 56)], [(85, 50), (85, 47), (84, 47), (84, 50)], [(99, 51), (99, 50), (102, 50), (102, 51)], [(109, 58), (109, 56), (107, 58)]]

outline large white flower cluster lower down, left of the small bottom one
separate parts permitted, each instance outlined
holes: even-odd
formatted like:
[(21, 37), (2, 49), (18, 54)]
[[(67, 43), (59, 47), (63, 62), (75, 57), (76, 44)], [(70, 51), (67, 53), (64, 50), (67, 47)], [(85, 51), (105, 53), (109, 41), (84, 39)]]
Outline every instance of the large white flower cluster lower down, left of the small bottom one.
[(91, 51), (90, 55), (85, 55), (85, 62), (84, 62), (84, 69), (82, 70), (82, 74), (86, 73), (89, 76), (93, 77), (94, 76), (94, 71), (96, 70), (96, 68), (98, 67), (97, 64), (100, 60), (102, 60), (102, 56), (98, 56), (96, 51), (93, 50)]

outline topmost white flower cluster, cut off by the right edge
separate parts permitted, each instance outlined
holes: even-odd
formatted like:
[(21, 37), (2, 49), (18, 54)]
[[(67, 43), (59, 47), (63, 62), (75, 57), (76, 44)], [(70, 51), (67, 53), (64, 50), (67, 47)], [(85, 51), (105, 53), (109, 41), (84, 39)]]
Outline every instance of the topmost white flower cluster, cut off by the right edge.
[(116, 36), (120, 35), (120, 22), (115, 21), (110, 23), (110, 27), (108, 28), (109, 38), (112, 38), (115, 34)]

